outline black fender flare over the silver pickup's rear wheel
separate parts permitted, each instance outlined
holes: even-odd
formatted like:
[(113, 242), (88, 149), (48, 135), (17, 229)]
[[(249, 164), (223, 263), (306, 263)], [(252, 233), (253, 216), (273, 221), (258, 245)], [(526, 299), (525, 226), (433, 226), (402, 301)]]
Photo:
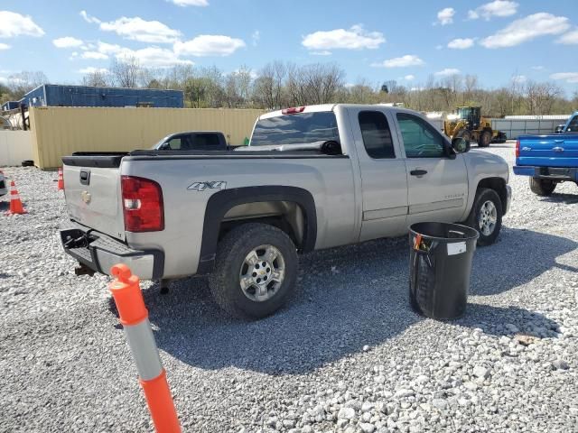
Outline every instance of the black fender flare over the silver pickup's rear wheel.
[(213, 270), (219, 243), (219, 227), (227, 212), (238, 205), (260, 201), (291, 201), (301, 207), (305, 224), (303, 243), (299, 250), (307, 253), (315, 248), (317, 211), (315, 200), (308, 190), (278, 185), (223, 189), (210, 196), (207, 202), (197, 274), (206, 274)]

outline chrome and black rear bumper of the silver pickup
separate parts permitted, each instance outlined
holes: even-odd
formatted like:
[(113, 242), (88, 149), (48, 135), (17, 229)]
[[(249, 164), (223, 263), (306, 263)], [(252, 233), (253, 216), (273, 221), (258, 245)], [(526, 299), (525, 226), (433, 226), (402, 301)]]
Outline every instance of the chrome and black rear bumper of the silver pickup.
[(95, 272), (110, 275), (110, 268), (125, 263), (141, 280), (163, 277), (164, 253), (160, 250), (134, 250), (108, 235), (72, 221), (61, 226), (64, 251)]

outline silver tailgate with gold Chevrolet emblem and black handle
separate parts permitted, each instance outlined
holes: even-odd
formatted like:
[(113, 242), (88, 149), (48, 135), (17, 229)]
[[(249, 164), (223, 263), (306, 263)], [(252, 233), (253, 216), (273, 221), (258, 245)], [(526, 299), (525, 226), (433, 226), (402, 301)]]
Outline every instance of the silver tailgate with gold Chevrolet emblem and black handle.
[(86, 156), (81, 160), (75, 158), (70, 156), (62, 159), (64, 195), (70, 218), (83, 226), (124, 241), (120, 158), (118, 164), (92, 163)]

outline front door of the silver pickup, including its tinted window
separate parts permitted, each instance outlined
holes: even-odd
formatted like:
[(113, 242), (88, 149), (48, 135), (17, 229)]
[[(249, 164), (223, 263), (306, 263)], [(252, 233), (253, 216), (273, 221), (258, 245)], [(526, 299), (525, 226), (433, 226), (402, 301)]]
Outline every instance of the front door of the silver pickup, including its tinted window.
[(458, 221), (468, 199), (463, 156), (447, 157), (443, 135), (418, 115), (398, 112), (396, 125), (406, 156), (408, 225)]

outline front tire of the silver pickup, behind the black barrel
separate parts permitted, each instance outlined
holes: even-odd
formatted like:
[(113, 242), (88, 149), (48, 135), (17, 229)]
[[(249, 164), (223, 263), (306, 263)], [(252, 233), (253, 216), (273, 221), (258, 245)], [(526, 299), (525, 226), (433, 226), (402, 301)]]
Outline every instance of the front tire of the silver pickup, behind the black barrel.
[[(487, 205), (487, 203), (491, 203), (491, 205)], [(495, 209), (495, 215), (491, 218), (494, 222), (491, 230), (487, 232), (485, 231), (486, 226), (488, 229), (492, 226), (491, 224), (486, 225), (489, 218), (487, 212), (492, 206), (493, 209)], [(484, 212), (486, 212), (485, 215)], [(470, 216), (465, 220), (465, 225), (478, 230), (480, 233), (480, 237), (478, 238), (479, 246), (491, 245), (496, 242), (499, 231), (502, 228), (502, 213), (502, 202), (499, 199), (498, 193), (493, 189), (478, 189), (476, 198), (473, 200)]]

